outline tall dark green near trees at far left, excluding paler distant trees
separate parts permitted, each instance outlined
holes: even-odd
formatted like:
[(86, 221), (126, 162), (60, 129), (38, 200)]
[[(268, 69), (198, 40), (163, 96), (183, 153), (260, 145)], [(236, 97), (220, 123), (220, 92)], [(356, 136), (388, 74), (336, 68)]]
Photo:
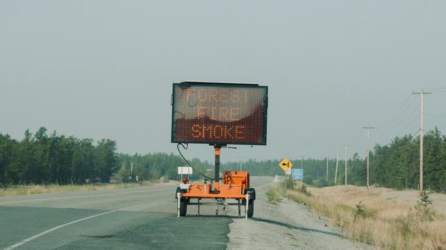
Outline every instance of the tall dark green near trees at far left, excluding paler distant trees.
[(0, 133), (0, 185), (109, 182), (118, 167), (116, 142), (48, 135), (41, 127), (21, 141)]

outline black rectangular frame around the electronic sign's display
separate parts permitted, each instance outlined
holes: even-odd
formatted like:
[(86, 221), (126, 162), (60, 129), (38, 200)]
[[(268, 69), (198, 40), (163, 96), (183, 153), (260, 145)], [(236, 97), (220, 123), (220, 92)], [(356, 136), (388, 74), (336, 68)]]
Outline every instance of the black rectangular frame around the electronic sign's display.
[[(199, 87), (224, 87), (224, 88), (260, 88), (265, 91), (265, 96), (263, 98), (263, 112), (262, 112), (262, 140), (261, 142), (233, 142), (233, 141), (225, 141), (225, 140), (215, 140), (215, 142), (205, 141), (205, 140), (178, 140), (176, 138), (175, 131), (175, 89), (180, 87), (188, 87), (188, 86), (199, 86)], [(262, 86), (256, 83), (222, 83), (222, 82), (200, 82), (200, 81), (185, 81), (182, 83), (174, 83), (172, 85), (172, 95), (171, 95), (171, 142), (172, 143), (193, 143), (193, 144), (209, 144), (209, 145), (266, 145), (267, 138), (267, 119), (268, 119), (268, 86)]]

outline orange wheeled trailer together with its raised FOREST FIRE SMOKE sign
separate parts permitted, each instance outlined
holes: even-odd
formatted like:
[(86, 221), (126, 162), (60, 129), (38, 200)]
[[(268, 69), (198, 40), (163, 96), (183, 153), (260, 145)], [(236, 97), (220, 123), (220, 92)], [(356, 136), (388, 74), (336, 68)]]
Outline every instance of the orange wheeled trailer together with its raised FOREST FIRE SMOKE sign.
[[(208, 144), (215, 149), (215, 170), (211, 178), (202, 174), (202, 183), (183, 179), (176, 190), (178, 217), (187, 206), (245, 206), (245, 217), (254, 214), (256, 190), (249, 187), (249, 172), (226, 171), (220, 177), (220, 150), (226, 145), (266, 145), (268, 86), (252, 83), (210, 83), (185, 81), (174, 83), (171, 96), (171, 142), (180, 152), (185, 144)], [(193, 167), (192, 167), (193, 168)], [(197, 172), (197, 170), (195, 169)], [(203, 199), (210, 200), (202, 202)], [(236, 202), (227, 202), (233, 199)]]

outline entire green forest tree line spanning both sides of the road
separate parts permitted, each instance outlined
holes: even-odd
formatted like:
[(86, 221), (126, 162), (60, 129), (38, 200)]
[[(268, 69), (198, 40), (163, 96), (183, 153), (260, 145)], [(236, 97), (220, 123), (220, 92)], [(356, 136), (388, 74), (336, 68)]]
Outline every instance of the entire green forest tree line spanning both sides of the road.
[[(404, 135), (389, 144), (376, 144), (370, 153), (370, 184), (387, 188), (418, 188), (420, 138)], [(224, 159), (222, 159), (224, 160)], [(280, 159), (246, 160), (241, 169), (251, 176), (284, 175)], [(189, 160), (195, 171), (191, 179), (213, 178), (213, 163)], [(291, 159), (293, 167), (304, 168), (304, 182), (309, 185), (342, 185), (345, 161), (339, 160), (337, 183), (334, 183), (336, 159)], [(174, 153), (124, 154), (116, 152), (116, 142), (102, 139), (77, 139), (47, 134), (40, 128), (34, 135), (24, 133), (21, 141), (0, 133), (0, 185), (18, 183), (89, 183), (109, 181), (178, 180), (177, 167), (187, 166)], [(238, 170), (240, 162), (222, 163), (221, 171)], [(348, 184), (366, 184), (366, 160), (357, 153), (348, 159)], [(446, 137), (435, 128), (424, 135), (424, 188), (446, 191)]]

